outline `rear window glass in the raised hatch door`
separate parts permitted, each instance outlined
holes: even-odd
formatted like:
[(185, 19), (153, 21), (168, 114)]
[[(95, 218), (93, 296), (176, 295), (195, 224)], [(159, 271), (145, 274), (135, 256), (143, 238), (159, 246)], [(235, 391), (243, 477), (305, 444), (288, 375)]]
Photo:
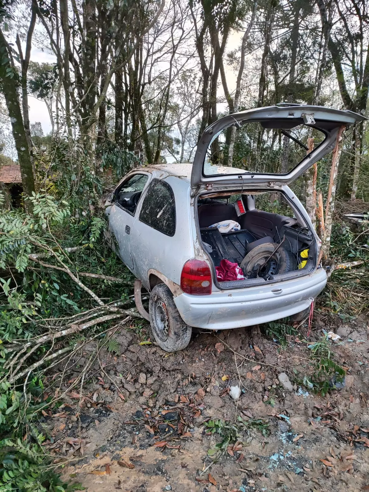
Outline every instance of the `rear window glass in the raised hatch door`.
[(287, 174), (324, 140), (322, 131), (290, 121), (267, 128), (267, 123), (236, 123), (217, 133), (207, 150), (204, 176), (240, 172)]

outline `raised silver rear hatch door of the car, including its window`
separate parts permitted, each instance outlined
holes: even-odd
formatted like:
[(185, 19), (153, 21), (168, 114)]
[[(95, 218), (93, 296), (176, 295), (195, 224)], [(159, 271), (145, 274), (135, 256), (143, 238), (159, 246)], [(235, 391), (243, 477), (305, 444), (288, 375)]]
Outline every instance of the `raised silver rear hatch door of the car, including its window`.
[[(201, 136), (191, 187), (200, 191), (289, 184), (334, 149), (342, 125), (363, 120), (364, 116), (352, 111), (289, 103), (225, 116)], [(237, 134), (231, 162), (233, 126)], [(311, 152), (309, 136), (314, 138)]]

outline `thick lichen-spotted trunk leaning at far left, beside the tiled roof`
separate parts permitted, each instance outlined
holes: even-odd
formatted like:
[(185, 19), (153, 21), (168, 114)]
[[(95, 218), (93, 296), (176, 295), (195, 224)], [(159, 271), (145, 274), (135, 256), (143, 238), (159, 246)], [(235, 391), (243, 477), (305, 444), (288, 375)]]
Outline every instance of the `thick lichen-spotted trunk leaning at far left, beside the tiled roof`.
[[(17, 149), (18, 161), (21, 168), (23, 192), (31, 196), (35, 191), (33, 166), (28, 146), (27, 135), (23, 123), (21, 106), (18, 97), (19, 79), (16, 73), (10, 47), (0, 29), (0, 83), (9, 112), (13, 138)], [(31, 211), (31, 202), (26, 200), (25, 208)]]

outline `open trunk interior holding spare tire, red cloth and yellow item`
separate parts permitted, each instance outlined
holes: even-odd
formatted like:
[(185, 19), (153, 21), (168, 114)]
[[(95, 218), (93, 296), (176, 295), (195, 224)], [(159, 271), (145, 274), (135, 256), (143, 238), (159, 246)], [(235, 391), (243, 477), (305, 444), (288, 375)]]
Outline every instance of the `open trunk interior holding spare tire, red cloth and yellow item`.
[[(213, 261), (221, 288), (241, 288), (305, 275), (316, 265), (316, 241), (312, 231), (293, 216), (282, 193), (274, 192), (274, 196), (271, 192), (252, 193), (208, 194), (197, 201), (202, 246)], [(236, 222), (239, 230), (219, 230), (218, 224), (223, 221)], [(221, 278), (218, 271), (222, 260), (240, 266), (241, 276), (236, 279), (230, 274)], [(227, 262), (222, 265), (229, 267)]]

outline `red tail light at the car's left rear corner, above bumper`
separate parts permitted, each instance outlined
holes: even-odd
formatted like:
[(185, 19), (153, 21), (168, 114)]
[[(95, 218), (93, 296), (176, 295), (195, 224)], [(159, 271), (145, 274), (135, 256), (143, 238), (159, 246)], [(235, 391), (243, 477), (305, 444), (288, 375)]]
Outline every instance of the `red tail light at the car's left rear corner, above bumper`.
[(212, 293), (212, 274), (209, 265), (202, 260), (188, 260), (181, 273), (181, 289), (186, 294), (204, 296)]

